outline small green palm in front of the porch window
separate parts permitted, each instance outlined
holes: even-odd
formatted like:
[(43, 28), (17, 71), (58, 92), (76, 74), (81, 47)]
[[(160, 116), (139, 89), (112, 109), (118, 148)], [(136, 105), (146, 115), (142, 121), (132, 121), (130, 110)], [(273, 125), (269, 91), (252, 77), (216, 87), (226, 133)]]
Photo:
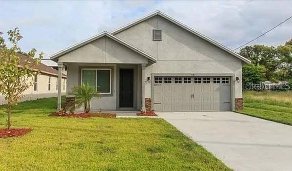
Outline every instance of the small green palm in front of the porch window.
[(100, 94), (94, 86), (82, 84), (72, 88), (71, 95), (75, 96), (75, 104), (77, 107), (84, 107), (84, 112), (90, 112), (90, 101), (93, 98), (99, 98)]

